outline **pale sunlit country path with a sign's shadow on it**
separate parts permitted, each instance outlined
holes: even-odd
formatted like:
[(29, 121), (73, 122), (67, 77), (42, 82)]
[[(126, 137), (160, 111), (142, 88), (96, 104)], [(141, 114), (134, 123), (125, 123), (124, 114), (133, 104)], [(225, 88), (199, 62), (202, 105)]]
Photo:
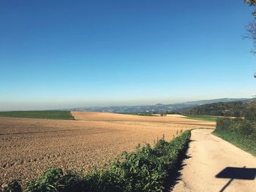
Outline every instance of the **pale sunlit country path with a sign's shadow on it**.
[[(215, 137), (211, 131), (192, 131), (188, 151), (190, 158), (184, 161), (181, 180), (173, 191), (256, 191), (256, 157)], [(245, 169), (239, 169), (244, 166)], [(227, 172), (222, 172), (225, 168)], [(223, 173), (220, 178), (216, 177), (219, 172)], [(232, 180), (232, 177), (236, 178)]]

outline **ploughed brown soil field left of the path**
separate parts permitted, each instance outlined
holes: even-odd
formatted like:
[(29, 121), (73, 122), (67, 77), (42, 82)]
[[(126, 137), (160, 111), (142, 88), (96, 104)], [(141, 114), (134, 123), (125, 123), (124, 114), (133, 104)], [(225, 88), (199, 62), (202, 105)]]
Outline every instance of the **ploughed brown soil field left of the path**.
[(88, 173), (123, 151), (154, 145), (165, 134), (214, 128), (214, 122), (167, 117), (72, 112), (75, 120), (0, 118), (0, 182), (34, 180), (52, 166)]

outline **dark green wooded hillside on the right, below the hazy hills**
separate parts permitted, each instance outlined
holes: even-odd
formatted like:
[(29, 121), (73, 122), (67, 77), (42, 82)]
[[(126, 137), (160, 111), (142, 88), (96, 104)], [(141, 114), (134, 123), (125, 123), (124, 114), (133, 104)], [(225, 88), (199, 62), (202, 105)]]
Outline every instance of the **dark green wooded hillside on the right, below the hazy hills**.
[(256, 119), (256, 102), (241, 101), (203, 104), (182, 112), (184, 115), (214, 115), (226, 117), (246, 117)]

